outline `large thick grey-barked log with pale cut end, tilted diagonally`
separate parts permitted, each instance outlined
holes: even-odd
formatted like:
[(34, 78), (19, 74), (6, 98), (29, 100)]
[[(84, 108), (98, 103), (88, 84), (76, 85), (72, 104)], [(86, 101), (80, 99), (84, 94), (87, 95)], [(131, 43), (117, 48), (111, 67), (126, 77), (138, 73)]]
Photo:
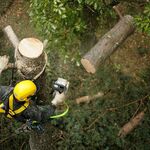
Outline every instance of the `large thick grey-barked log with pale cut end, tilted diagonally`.
[(106, 33), (81, 59), (87, 72), (95, 73), (98, 66), (135, 30), (133, 17), (126, 15)]

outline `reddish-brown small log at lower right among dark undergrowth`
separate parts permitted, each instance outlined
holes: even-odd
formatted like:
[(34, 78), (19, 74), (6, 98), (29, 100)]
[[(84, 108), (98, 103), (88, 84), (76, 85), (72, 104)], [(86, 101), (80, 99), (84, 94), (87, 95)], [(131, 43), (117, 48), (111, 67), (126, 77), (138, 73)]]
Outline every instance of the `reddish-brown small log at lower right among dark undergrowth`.
[(135, 129), (142, 119), (144, 118), (145, 111), (138, 113), (134, 118), (132, 118), (128, 123), (126, 123), (119, 131), (118, 136), (124, 137), (129, 134), (133, 129)]

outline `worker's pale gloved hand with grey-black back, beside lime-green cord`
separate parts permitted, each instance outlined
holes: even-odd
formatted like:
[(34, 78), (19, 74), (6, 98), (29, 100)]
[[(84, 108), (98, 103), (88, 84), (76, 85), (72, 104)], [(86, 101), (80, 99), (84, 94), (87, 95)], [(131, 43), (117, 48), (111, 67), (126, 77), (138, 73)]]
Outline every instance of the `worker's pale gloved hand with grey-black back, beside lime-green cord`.
[(66, 98), (66, 93), (69, 88), (69, 82), (65, 79), (58, 78), (53, 85), (54, 89), (54, 99), (52, 100), (52, 105), (59, 105), (64, 102)]

